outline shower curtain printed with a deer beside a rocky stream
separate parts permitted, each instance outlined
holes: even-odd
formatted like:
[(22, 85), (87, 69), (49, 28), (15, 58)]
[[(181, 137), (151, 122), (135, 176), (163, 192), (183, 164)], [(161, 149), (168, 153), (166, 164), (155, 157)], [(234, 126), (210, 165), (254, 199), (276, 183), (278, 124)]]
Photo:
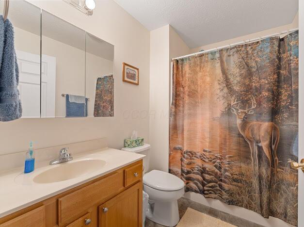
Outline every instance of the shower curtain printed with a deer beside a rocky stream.
[(297, 225), (298, 32), (173, 62), (170, 173)]

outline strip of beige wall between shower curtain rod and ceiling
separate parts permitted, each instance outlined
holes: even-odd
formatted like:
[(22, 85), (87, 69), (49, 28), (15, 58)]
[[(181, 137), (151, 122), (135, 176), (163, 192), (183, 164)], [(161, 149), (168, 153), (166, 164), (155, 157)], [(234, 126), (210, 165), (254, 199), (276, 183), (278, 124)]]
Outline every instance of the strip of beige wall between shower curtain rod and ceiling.
[(298, 28), (298, 27), (299, 27), (299, 13), (296, 14), (296, 16), (294, 17), (293, 22), (291, 24), (287, 24), (287, 25), (283, 25), (283, 26), (280, 26), (280, 27), (264, 30), (264, 31), (261, 31), (261, 32), (251, 33), (251, 34), (248, 34), (248, 35), (243, 35), (243, 36), (236, 37), (236, 38), (233, 38), (233, 39), (227, 39), (227, 40), (224, 40), (224, 41), (221, 41), (221, 42), (204, 45), (202, 47), (193, 48), (193, 49), (190, 50), (190, 53), (196, 53), (196, 52), (199, 52), (202, 49), (203, 50), (208, 50), (208, 49), (223, 47), (223, 46), (226, 46), (226, 45), (229, 45), (229, 44), (242, 42), (242, 41), (248, 40), (248, 39), (255, 39), (255, 38), (258, 38), (258, 37), (262, 37), (262, 36), (265, 36), (265, 35), (270, 35), (270, 34), (274, 34), (274, 33), (278, 33), (278, 32), (288, 31), (290, 29), (295, 29), (295, 28)]

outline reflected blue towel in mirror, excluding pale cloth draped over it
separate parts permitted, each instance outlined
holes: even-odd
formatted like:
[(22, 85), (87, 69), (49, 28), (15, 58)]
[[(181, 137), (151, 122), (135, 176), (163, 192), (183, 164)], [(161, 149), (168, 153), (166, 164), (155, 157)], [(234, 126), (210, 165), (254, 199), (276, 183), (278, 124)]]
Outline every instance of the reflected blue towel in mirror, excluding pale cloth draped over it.
[(84, 116), (88, 116), (88, 98), (83, 99), (83, 103), (70, 102), (69, 95), (66, 94), (65, 117), (84, 117)]

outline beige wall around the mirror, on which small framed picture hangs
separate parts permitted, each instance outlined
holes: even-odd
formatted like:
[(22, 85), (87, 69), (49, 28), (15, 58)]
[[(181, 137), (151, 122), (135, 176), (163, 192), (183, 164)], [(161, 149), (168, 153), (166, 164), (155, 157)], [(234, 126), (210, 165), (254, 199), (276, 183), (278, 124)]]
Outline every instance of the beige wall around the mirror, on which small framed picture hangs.
[[(0, 154), (107, 137), (121, 148), (132, 130), (149, 142), (150, 32), (112, 0), (96, 1), (86, 16), (63, 1), (30, 1), (114, 45), (114, 117), (19, 119), (0, 122)], [(122, 82), (122, 62), (140, 68), (140, 85)], [(73, 151), (71, 150), (73, 153)]]

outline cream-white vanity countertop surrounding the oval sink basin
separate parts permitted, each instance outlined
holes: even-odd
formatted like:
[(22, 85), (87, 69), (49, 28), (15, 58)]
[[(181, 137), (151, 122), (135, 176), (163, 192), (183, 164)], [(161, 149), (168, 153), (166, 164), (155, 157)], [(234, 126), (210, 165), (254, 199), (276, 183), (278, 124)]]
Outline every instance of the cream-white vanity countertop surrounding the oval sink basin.
[(88, 173), (87, 175), (78, 178), (54, 183), (35, 183), (32, 181), (32, 178), (45, 170), (64, 165), (66, 162), (56, 165), (49, 165), (48, 162), (40, 162), (35, 165), (35, 170), (28, 174), (23, 173), (23, 168), (16, 168), (9, 172), (2, 173), (0, 175), (0, 217), (21, 210), (54, 195), (58, 195), (143, 158), (144, 155), (141, 154), (112, 148), (102, 148), (90, 152), (79, 153), (75, 156), (73, 155), (73, 160), (69, 162), (77, 162), (86, 159), (100, 159), (107, 163), (98, 171)]

